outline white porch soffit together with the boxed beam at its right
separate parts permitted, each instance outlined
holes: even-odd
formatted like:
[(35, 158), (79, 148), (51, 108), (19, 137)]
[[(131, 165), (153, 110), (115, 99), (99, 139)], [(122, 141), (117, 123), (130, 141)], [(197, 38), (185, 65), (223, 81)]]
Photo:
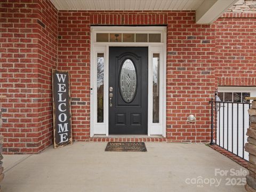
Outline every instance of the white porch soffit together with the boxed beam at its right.
[(51, 0), (58, 10), (194, 10), (196, 23), (209, 24), (237, 0)]

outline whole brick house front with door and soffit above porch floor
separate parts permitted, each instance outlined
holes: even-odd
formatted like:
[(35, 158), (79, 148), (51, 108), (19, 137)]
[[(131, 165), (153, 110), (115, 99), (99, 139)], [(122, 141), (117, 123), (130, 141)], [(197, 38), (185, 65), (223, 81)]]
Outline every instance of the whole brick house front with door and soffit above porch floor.
[(1, 1), (6, 154), (52, 144), (53, 69), (75, 141), (209, 142), (218, 89), (256, 96), (256, 1), (113, 2)]

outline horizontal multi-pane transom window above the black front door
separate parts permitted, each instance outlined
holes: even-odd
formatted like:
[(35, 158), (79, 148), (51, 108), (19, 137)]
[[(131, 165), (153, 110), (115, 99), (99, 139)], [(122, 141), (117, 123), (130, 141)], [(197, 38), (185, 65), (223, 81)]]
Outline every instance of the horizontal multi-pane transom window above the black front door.
[(97, 33), (96, 42), (161, 43), (159, 33)]

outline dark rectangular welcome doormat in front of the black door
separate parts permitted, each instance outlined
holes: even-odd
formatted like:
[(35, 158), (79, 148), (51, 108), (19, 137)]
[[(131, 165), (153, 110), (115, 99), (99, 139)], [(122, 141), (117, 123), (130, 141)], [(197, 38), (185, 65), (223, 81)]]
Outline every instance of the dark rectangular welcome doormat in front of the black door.
[(145, 142), (108, 142), (105, 151), (147, 152)]

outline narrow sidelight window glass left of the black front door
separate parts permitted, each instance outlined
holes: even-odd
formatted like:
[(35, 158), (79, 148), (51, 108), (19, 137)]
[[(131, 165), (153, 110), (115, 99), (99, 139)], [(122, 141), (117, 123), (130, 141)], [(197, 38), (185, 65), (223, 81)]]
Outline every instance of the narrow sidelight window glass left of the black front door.
[(103, 123), (104, 53), (97, 54), (97, 122)]

